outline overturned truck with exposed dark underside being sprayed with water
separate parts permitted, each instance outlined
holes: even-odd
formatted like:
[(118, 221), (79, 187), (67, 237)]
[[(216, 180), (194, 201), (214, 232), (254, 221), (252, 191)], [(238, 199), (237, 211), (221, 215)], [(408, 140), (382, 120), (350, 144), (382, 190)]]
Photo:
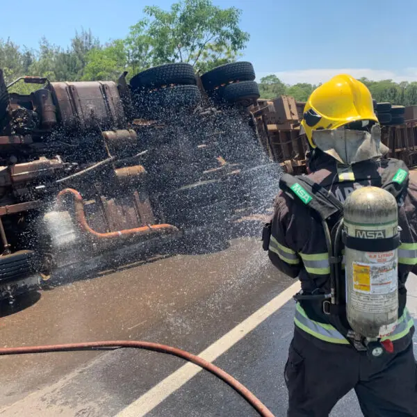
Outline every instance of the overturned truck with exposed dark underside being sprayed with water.
[(259, 98), (250, 63), (202, 76), (172, 63), (129, 83), (126, 73), (117, 83), (22, 79), (40, 88), (10, 92), (0, 70), (0, 299), (99, 254), (272, 204), (279, 165), (249, 110)]

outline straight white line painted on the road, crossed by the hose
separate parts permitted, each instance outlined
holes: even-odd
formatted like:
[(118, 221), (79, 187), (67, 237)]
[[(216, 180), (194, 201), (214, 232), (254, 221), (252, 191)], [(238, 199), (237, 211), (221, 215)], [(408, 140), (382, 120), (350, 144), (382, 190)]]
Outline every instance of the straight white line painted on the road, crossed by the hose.
[[(224, 334), (218, 341), (208, 346), (205, 350), (198, 354), (199, 357), (206, 359), (206, 361), (213, 362), (220, 357), (224, 352), (229, 350), (233, 345), (238, 343), (247, 334), (252, 332), (265, 319), (272, 316), (277, 310), (281, 308), (286, 302), (291, 300), (291, 297), (297, 291), (300, 291), (300, 281), (296, 281), (293, 285), (286, 288), (286, 290), (279, 293), (277, 297), (273, 298), (255, 311), (251, 316), (243, 320), (239, 325), (231, 329), (227, 334)], [(142, 417), (152, 411), (158, 404), (169, 397), (172, 393), (181, 388), (186, 382), (193, 378), (202, 370), (194, 363), (186, 363), (181, 366), (174, 373), (156, 384), (152, 389), (147, 391), (138, 400), (132, 402), (125, 409), (120, 411), (115, 417)]]

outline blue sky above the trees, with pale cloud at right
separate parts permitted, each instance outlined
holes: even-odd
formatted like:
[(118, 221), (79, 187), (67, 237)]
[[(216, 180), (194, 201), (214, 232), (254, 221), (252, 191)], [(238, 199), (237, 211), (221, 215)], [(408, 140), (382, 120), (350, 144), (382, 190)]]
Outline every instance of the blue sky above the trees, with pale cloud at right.
[[(1, 1), (1, 0), (0, 0)], [(75, 30), (91, 28), (101, 42), (122, 38), (146, 5), (173, 0), (1, 1), (0, 38), (36, 48), (45, 35), (66, 46)], [(417, 0), (213, 0), (243, 10), (251, 39), (243, 59), (258, 79), (325, 81), (338, 72), (370, 79), (417, 81)], [(6, 17), (6, 18), (5, 18)]]

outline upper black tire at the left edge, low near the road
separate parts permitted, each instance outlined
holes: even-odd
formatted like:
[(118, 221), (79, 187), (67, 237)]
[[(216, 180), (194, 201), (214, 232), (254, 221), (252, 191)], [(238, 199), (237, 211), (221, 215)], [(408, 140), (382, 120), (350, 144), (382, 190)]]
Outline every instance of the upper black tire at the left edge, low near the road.
[(35, 272), (37, 259), (35, 252), (21, 250), (10, 255), (0, 256), (0, 281), (24, 277)]

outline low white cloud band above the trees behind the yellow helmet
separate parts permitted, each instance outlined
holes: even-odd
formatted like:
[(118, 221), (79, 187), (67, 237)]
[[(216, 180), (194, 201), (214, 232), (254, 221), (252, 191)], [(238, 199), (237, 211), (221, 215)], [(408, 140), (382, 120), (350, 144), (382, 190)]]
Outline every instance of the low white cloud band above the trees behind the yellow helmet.
[(322, 68), (311, 70), (294, 70), (281, 72), (256, 72), (256, 81), (263, 76), (275, 74), (281, 81), (286, 84), (311, 83), (318, 84), (328, 81), (336, 74), (350, 74), (355, 78), (365, 76), (370, 80), (392, 79), (393, 81), (417, 81), (417, 68), (405, 68), (401, 72), (393, 72), (389, 70), (371, 70), (370, 68)]

